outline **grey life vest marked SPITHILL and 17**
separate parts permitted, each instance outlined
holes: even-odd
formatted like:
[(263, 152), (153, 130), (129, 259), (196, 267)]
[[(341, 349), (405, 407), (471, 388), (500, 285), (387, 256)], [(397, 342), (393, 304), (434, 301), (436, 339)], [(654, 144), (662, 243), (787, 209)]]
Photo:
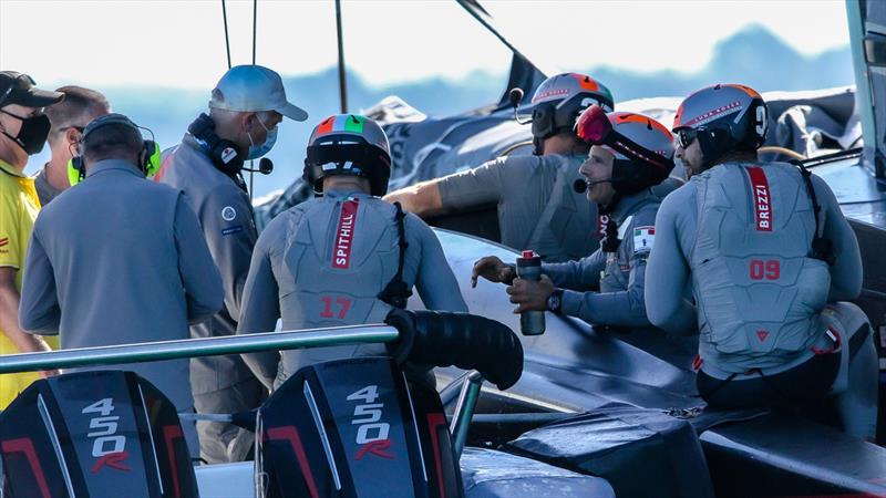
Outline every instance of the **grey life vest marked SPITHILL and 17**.
[(400, 224), (394, 206), (371, 197), (308, 207), (286, 245), (292, 287), (280, 289), (284, 329), (381, 323), (391, 305), (380, 293), (402, 277)]

